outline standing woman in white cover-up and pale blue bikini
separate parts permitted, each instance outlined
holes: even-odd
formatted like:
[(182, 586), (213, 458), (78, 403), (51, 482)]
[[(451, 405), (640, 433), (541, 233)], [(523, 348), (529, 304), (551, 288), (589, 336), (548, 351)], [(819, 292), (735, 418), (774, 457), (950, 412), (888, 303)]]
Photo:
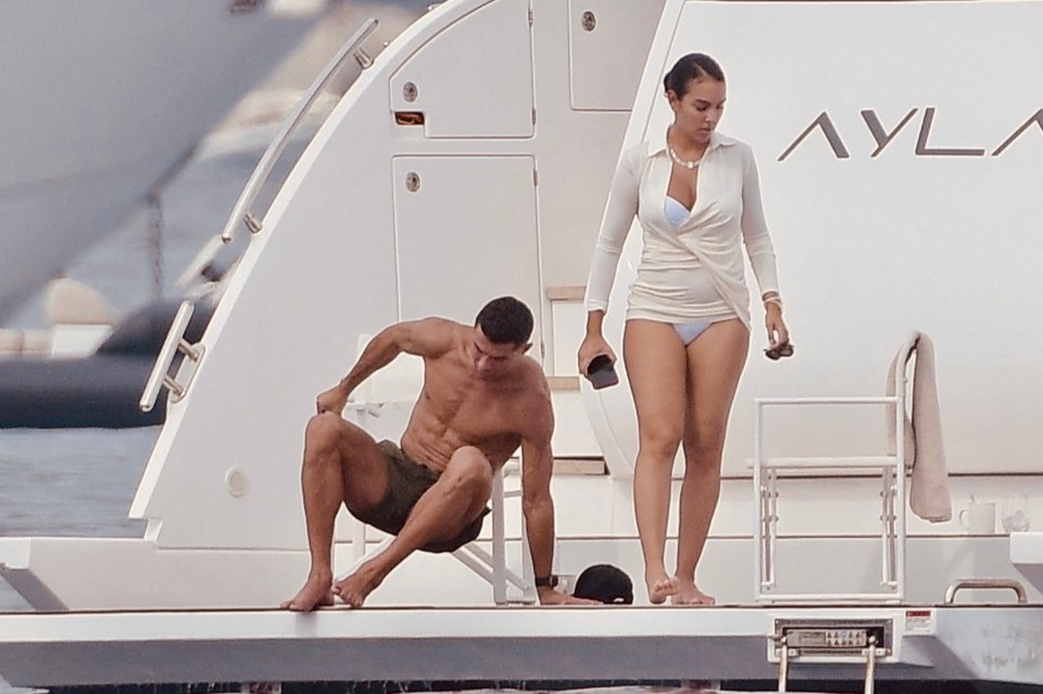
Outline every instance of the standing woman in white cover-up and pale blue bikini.
[[(587, 285), (579, 368), (612, 348), (602, 320), (624, 241), (637, 215), (643, 251), (630, 287), (623, 355), (638, 414), (633, 506), (649, 600), (712, 605), (695, 582), (720, 495), (725, 430), (750, 344), (750, 295), (740, 241), (765, 308), (768, 356), (792, 354), (775, 250), (750, 146), (716, 131), (725, 75), (708, 55), (686, 55), (664, 78), (674, 122), (665, 139), (627, 150), (613, 178)], [(677, 569), (664, 552), (670, 477), (684, 446)]]

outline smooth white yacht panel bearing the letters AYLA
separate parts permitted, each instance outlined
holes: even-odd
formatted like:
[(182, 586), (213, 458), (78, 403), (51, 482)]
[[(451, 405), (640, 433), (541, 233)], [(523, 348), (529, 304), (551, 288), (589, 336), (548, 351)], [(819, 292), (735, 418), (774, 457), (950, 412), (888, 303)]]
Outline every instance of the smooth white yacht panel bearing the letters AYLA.
[[(680, 55), (720, 62), (719, 127), (757, 155), (796, 345), (792, 359), (765, 359), (754, 306), (725, 474), (745, 474), (754, 398), (883, 394), (913, 329), (937, 345), (951, 471), (1038, 471), (1043, 45), (1026, 27), (1043, 26), (1043, 3), (690, 1), (669, 3), (663, 23), (626, 144), (662, 137), (662, 76)], [(617, 349), (639, 235), (606, 320)], [(629, 390), (587, 402), (610, 467), (627, 471)], [(771, 426), (780, 449), (810, 455), (876, 446), (884, 418), (818, 411)]]

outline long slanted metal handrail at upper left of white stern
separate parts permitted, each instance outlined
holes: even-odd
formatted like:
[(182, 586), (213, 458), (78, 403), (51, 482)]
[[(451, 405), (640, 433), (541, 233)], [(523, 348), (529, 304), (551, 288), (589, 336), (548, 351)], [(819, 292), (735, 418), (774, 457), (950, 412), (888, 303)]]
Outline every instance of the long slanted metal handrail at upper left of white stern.
[(301, 101), (297, 105), (297, 110), (293, 114), (288, 117), (284, 123), (282, 127), (279, 129), (278, 135), (268, 146), (268, 149), (265, 150), (264, 155), (261, 157), (261, 161), (257, 162), (256, 167), (253, 169), (253, 174), (250, 175), (250, 180), (247, 181), (246, 187), (242, 189), (242, 193), (239, 195), (238, 202), (236, 202), (235, 209), (231, 211), (231, 215), (228, 217), (228, 222), (225, 224), (224, 230), (221, 232), (221, 240), (225, 243), (230, 243), (233, 234), (236, 227), (240, 222), (247, 225), (247, 228), (256, 234), (261, 230), (264, 225), (264, 219), (257, 219), (250, 213), (250, 207), (253, 205), (254, 201), (257, 198), (257, 193), (261, 192), (261, 187), (268, 180), (268, 176), (272, 175), (272, 169), (275, 168), (275, 163), (278, 161), (279, 156), (282, 154), (282, 151), (286, 149), (289, 143), (290, 135), (297, 130), (298, 126), (304, 119), (304, 114), (315, 102), (315, 99), (318, 98), (318, 93), (323, 90), (326, 84), (330, 78), (341, 68), (341, 66), (347, 62), (349, 56), (354, 56), (354, 59), (362, 65), (363, 70), (373, 64), (373, 61), (368, 55), (360, 48), (360, 45), (366, 40), (366, 38), (373, 34), (377, 28), (379, 22), (369, 17), (362, 23), (362, 26), (359, 27), (359, 30), (348, 39), (348, 42), (344, 43), (343, 48), (338, 51), (329, 63), (326, 64), (326, 68), (319, 73), (318, 77), (315, 78), (315, 81), (312, 83), (312, 86), (309, 88), (307, 93), (301, 98)]

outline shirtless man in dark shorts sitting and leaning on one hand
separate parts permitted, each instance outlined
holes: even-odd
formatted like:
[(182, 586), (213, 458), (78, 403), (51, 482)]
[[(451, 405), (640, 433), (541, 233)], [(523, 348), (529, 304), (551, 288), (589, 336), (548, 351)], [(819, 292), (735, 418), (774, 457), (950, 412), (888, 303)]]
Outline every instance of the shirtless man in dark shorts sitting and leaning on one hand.
[[(543, 605), (590, 603), (554, 590), (554, 505), (550, 494), (554, 416), (531, 346), (532, 314), (512, 296), (479, 312), (474, 327), (442, 318), (401, 323), (377, 335), (340, 383), (317, 399), (304, 433), (301, 487), (312, 566), (282, 604), (306, 611), (339, 596), (360, 607), (417, 550), (452, 552), (481, 530), (492, 476), (522, 446), (529, 551)], [(401, 449), (377, 443), (340, 417), (351, 392), (401, 352), (424, 357), (424, 388)], [(332, 580), (330, 553), (340, 504), (395, 535), (351, 576)]]

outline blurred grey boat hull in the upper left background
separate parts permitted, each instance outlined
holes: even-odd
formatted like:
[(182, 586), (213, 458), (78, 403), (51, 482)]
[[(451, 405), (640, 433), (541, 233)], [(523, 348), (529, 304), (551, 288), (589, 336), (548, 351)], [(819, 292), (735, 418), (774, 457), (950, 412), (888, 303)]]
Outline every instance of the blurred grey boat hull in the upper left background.
[(326, 10), (324, 0), (3, 3), (0, 325), (148, 205)]

